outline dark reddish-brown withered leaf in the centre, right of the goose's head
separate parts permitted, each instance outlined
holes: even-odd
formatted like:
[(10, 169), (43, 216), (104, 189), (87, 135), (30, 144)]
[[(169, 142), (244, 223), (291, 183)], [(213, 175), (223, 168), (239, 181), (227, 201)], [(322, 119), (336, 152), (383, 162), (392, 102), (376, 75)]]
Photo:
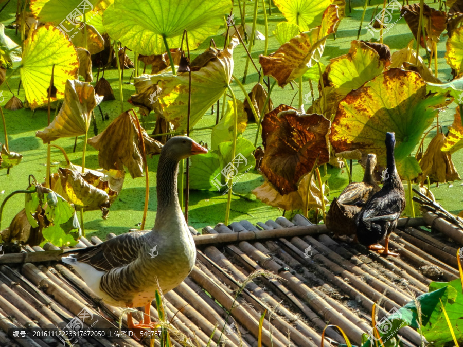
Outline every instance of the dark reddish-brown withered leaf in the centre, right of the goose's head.
[[(278, 116), (290, 110), (294, 114)], [(299, 178), (312, 169), (318, 153), (318, 165), (330, 159), (326, 137), (330, 121), (317, 114), (300, 117), (295, 112), (294, 107), (279, 105), (262, 121), (265, 153), (261, 171), (282, 195), (297, 190)]]

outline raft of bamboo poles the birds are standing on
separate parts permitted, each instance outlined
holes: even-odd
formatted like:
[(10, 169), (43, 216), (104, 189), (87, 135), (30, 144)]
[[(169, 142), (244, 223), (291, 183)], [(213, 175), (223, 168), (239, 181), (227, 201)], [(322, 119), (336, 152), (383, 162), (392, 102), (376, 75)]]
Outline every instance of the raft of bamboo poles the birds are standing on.
[[(426, 225), (431, 232), (421, 229)], [(243, 346), (257, 346), (264, 310), (268, 314), (263, 346), (286, 347), (288, 341), (297, 347), (320, 346), (327, 322), (340, 326), (352, 343), (360, 345), (362, 333), (371, 328), (373, 303), (381, 299), (377, 309), (381, 319), (413, 296), (426, 293), (432, 281), (458, 278), (456, 252), (463, 245), (463, 229), (432, 212), (399, 221), (390, 242), (400, 254), (397, 258), (333, 240), (325, 226), (314, 226), (301, 215), (292, 221), (279, 217), (257, 225), (218, 224), (194, 237), (196, 266), (165, 299), (168, 319), (200, 346), (207, 345), (216, 326), (211, 346), (217, 345), (224, 325), (234, 322), (237, 331), (222, 336), (225, 345), (240, 346), (241, 339)], [(96, 237), (82, 238), (76, 247), (100, 242)], [(8, 335), (8, 328), (63, 328), (84, 307), (98, 318), (96, 328), (118, 328), (121, 309), (101, 302), (72, 269), (57, 261), (61, 250), (52, 245), (44, 248), (25, 246), (24, 253), (0, 258), (0, 346), (63, 345), (52, 337), (16, 339)], [(235, 290), (256, 270), (272, 271), (282, 280), (258, 277), (247, 284), (226, 322), (225, 309), (233, 305)], [(157, 318), (155, 306), (151, 315)], [(122, 327), (126, 323), (124, 315)], [(400, 336), (405, 346), (420, 345), (412, 328), (402, 328)], [(343, 342), (333, 328), (327, 329), (325, 338), (325, 343)], [(181, 342), (175, 343), (181, 346)], [(82, 337), (75, 345), (138, 347), (149, 341)]]

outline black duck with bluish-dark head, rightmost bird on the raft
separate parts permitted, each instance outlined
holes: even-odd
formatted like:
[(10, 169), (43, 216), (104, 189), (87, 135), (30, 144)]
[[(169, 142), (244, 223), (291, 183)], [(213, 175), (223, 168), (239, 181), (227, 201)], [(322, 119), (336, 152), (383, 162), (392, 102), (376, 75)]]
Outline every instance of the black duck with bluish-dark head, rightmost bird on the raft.
[[(389, 236), (396, 228), (397, 221), (405, 209), (405, 192), (396, 169), (394, 133), (386, 133), (386, 162), (390, 172), (383, 187), (375, 193), (360, 211), (357, 217), (357, 236), (359, 242), (369, 249), (383, 255), (398, 254), (389, 251)], [(379, 243), (384, 240), (384, 247)]]

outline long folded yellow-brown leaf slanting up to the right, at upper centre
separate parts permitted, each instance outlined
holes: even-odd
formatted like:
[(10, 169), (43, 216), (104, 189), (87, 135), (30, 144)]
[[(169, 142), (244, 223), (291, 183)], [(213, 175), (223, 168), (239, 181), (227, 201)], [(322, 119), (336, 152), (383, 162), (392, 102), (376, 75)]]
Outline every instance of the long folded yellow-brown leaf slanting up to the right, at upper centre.
[(337, 21), (337, 6), (330, 5), (320, 26), (300, 33), (269, 56), (260, 56), (264, 75), (273, 76), (280, 87), (304, 75), (322, 57), (326, 39), (334, 32)]

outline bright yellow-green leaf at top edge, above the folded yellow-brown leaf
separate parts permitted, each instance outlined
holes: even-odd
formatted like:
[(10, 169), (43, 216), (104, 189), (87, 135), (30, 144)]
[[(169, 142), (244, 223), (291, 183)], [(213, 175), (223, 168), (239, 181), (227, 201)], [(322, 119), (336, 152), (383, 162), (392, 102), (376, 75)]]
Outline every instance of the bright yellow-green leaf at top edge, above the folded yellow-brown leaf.
[(322, 24), (323, 12), (332, 0), (274, 0), (288, 22), (297, 24), (301, 31), (308, 31)]

